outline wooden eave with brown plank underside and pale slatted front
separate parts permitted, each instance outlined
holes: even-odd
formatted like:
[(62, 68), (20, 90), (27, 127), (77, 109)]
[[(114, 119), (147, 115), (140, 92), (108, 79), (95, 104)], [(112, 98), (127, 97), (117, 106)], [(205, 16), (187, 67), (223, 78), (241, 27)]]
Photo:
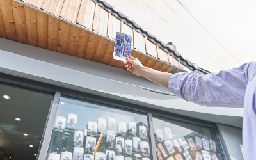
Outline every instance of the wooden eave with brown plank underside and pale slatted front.
[(92, 0), (0, 0), (0, 37), (125, 68), (113, 60), (116, 32), (132, 36), (132, 56), (143, 65), (184, 72), (179, 60)]

